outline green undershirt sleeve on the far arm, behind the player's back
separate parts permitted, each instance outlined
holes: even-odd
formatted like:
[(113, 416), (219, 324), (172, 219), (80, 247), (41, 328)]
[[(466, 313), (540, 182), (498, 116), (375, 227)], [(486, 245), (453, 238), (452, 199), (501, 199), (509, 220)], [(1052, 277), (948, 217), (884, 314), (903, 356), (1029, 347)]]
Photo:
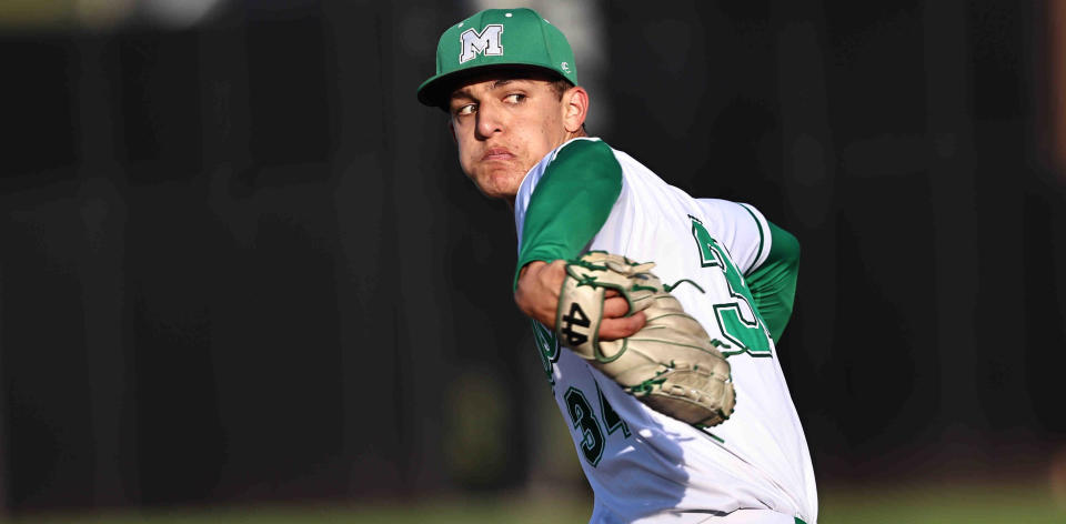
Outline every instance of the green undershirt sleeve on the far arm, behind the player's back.
[(755, 308), (766, 321), (774, 342), (781, 339), (792, 316), (792, 303), (796, 296), (796, 276), (800, 272), (800, 241), (787, 231), (770, 225), (770, 254), (758, 269), (744, 278)]

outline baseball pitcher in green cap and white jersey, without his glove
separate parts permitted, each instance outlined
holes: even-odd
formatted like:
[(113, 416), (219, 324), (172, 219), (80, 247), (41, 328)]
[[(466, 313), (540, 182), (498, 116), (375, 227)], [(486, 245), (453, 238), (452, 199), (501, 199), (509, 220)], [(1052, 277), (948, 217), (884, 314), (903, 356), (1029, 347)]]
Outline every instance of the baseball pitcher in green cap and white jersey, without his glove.
[[(595, 493), (592, 522), (814, 523), (807, 444), (775, 341), (792, 313), (798, 243), (755, 208), (695, 199), (585, 134), (589, 93), (563, 33), (529, 9), (450, 27), (419, 100), (445, 110), (463, 172), (514, 210), (514, 296)], [(567, 260), (591, 250), (652, 261), (726, 357), (735, 410), (713, 427), (653, 410), (559, 333)], [(599, 340), (650, 323), (603, 302)], [(597, 319), (599, 321), (599, 319)], [(565, 339), (564, 339), (565, 340)]]

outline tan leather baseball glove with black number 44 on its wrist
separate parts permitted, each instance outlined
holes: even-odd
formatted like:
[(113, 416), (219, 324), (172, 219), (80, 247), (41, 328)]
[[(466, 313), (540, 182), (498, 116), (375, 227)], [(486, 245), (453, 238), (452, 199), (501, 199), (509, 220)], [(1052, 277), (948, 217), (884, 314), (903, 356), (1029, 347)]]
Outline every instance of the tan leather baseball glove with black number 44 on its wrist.
[[(715, 347), (721, 343), (670, 293), (680, 282), (664, 285), (650, 272), (654, 265), (602, 251), (569, 261), (555, 314), (560, 342), (653, 410), (697, 426), (720, 424), (735, 403), (730, 364)], [(597, 340), (606, 290), (625, 298), (628, 315), (643, 311), (647, 324), (627, 339)]]

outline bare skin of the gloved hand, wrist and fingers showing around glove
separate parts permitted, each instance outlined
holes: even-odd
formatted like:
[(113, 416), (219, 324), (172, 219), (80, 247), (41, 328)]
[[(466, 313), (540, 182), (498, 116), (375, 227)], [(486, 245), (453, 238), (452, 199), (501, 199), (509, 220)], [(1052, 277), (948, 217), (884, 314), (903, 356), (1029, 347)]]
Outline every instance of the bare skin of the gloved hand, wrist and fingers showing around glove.
[[(551, 264), (541, 261), (530, 262), (519, 273), (519, 288), (514, 292), (514, 303), (523, 313), (540, 323), (555, 329), (555, 312), (559, 308), (559, 291), (566, 276), (566, 261), (556, 260)], [(600, 323), (600, 340), (612, 341), (630, 336), (647, 322), (644, 312), (625, 316), (630, 304), (616, 291), (609, 290), (603, 302), (603, 321)]]

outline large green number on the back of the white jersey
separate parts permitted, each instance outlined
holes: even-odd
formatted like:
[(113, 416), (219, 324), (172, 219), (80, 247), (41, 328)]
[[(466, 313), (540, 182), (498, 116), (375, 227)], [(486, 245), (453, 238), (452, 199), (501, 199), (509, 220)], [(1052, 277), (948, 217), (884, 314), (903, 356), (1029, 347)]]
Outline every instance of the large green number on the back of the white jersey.
[(752, 305), (755, 303), (752, 292), (730, 259), (728, 250), (711, 236), (700, 219), (688, 218), (692, 219), (692, 238), (700, 246), (701, 265), (721, 270), (730, 289), (732, 300), (714, 304), (714, 316), (722, 334), (738, 349), (721, 347), (722, 354), (731, 356), (747, 352), (752, 356), (772, 356), (766, 322)]

